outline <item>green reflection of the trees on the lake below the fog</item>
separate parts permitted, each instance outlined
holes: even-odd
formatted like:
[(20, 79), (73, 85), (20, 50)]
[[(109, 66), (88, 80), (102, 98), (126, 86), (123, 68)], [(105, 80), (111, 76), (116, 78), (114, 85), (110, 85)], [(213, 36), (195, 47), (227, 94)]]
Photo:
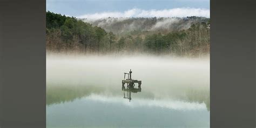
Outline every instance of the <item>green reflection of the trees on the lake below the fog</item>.
[[(106, 92), (107, 87), (97, 87), (97, 86), (68, 86), (68, 85), (49, 85), (46, 89), (46, 104), (60, 104), (65, 102), (72, 102), (75, 99), (90, 96), (91, 94), (98, 94)], [(178, 91), (178, 89), (176, 89)], [(181, 90), (181, 89), (179, 89)], [(122, 90), (112, 90), (112, 96), (122, 97)], [(144, 91), (143, 91), (144, 92)], [(172, 91), (170, 91), (171, 93)], [(114, 95), (113, 93), (116, 93)], [(106, 95), (107, 93), (105, 93)], [(153, 92), (145, 91), (142, 95), (134, 96), (136, 98), (142, 99), (161, 99), (154, 96)], [(184, 100), (191, 103), (204, 103), (207, 110), (210, 111), (210, 91), (206, 89), (184, 89), (182, 95), (168, 95), (168, 97), (176, 100)]]

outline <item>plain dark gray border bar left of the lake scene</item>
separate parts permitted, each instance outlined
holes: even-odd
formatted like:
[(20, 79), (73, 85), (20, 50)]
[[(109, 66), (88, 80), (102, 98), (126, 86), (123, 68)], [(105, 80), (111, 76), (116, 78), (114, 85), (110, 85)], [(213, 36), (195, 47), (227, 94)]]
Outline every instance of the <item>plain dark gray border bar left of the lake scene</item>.
[(45, 0), (0, 2), (1, 128), (45, 127)]

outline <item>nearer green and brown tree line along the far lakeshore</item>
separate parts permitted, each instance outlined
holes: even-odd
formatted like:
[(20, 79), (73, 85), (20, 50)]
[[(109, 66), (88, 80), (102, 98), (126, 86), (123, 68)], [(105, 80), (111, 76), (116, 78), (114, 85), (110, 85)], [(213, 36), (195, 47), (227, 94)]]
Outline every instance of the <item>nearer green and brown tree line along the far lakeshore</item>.
[[(193, 17), (192, 17), (193, 18)], [(189, 18), (187, 19), (189, 20)], [(186, 30), (118, 35), (81, 19), (46, 12), (46, 50), (57, 53), (200, 56), (210, 51), (210, 19)]]

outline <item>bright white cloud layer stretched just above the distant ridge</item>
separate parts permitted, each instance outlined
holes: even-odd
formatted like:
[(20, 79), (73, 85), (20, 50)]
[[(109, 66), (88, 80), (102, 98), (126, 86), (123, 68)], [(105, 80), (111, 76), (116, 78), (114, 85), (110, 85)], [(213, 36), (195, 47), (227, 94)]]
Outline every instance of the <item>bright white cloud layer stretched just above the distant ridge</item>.
[(124, 12), (100, 12), (95, 14), (85, 14), (78, 16), (78, 18), (87, 19), (101, 19), (107, 17), (187, 17), (187, 16), (201, 16), (210, 17), (209, 9), (196, 8), (175, 8), (164, 10), (142, 10), (130, 9)]

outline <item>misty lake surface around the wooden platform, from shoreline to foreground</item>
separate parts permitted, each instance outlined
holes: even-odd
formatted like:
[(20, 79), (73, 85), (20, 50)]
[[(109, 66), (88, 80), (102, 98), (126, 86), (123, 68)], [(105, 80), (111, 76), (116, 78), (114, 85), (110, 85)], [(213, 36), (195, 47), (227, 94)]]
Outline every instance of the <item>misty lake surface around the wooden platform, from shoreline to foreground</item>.
[[(57, 57), (46, 61), (47, 127), (210, 127), (207, 59)], [(124, 99), (123, 73), (142, 80)], [(127, 92), (125, 92), (127, 96)]]

